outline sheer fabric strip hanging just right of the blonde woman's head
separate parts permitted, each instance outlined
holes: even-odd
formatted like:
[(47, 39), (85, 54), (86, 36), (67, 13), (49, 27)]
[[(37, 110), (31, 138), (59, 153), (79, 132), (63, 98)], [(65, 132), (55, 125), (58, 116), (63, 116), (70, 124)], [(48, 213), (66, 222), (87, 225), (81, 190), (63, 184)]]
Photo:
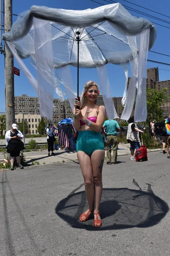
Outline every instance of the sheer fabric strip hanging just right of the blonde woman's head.
[(111, 120), (111, 119), (118, 118), (119, 116), (117, 115), (116, 110), (114, 108), (114, 104), (113, 104), (106, 65), (97, 67), (97, 72), (99, 76), (100, 87), (102, 90), (103, 101), (105, 103), (108, 119)]

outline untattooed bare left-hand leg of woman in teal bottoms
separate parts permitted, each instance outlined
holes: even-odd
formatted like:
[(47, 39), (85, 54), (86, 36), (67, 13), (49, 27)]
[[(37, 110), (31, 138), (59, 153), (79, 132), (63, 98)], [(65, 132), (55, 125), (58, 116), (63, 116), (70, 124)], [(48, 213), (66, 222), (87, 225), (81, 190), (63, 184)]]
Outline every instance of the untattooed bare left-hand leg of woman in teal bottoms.
[[(87, 196), (89, 209), (93, 211), (94, 209), (94, 178), (92, 173), (92, 166), (91, 166), (91, 158), (88, 154), (83, 151), (77, 152), (77, 157), (79, 160), (79, 165), (82, 170), (82, 175), (85, 182), (85, 193)], [(87, 213), (86, 211), (85, 213)]]

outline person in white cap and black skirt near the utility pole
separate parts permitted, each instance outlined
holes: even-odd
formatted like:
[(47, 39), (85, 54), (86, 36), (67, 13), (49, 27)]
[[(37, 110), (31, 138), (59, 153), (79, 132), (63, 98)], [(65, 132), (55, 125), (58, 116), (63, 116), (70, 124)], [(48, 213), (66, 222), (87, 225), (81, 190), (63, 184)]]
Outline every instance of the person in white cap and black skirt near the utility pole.
[(17, 160), (18, 167), (23, 169), (20, 161), (20, 151), (25, 149), (24, 143), (21, 141), (23, 137), (22, 132), (17, 129), (16, 124), (12, 124), (11, 130), (6, 132), (6, 149), (7, 153), (10, 153), (11, 170), (14, 170), (15, 158)]

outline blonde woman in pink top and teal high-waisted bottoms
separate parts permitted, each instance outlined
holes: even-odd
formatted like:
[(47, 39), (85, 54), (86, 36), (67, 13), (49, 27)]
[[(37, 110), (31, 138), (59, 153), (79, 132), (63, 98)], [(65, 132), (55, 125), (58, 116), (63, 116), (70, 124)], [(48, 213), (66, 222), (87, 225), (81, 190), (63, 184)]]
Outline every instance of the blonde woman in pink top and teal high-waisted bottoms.
[(85, 193), (89, 209), (79, 217), (87, 221), (94, 212), (94, 226), (100, 227), (102, 221), (99, 205), (102, 197), (102, 167), (105, 148), (100, 134), (105, 122), (105, 107), (96, 105), (99, 95), (98, 85), (88, 81), (82, 92), (81, 101), (75, 98), (74, 127), (79, 131), (77, 139), (77, 157), (85, 182)]

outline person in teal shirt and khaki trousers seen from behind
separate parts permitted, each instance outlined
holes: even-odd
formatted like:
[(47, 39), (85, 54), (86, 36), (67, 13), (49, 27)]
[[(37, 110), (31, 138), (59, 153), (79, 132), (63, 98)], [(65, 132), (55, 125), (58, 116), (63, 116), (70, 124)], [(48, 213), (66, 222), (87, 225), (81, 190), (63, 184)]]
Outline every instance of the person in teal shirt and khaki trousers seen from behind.
[(119, 129), (120, 137), (122, 138), (122, 131), (119, 127), (119, 124), (115, 120), (107, 120), (104, 122), (103, 127), (106, 128), (107, 132), (107, 156), (106, 161), (107, 164), (111, 164), (111, 148), (113, 150), (113, 163), (117, 162), (117, 131)]

